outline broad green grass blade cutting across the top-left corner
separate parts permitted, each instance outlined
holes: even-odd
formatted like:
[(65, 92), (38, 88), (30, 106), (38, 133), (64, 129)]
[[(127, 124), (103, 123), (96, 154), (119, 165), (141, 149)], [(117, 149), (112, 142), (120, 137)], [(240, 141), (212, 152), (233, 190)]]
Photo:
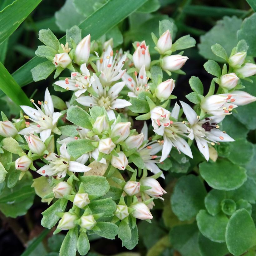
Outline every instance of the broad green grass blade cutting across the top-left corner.
[(41, 1), (42, 0), (16, 0), (0, 12), (0, 43), (20, 26), (24, 19)]

